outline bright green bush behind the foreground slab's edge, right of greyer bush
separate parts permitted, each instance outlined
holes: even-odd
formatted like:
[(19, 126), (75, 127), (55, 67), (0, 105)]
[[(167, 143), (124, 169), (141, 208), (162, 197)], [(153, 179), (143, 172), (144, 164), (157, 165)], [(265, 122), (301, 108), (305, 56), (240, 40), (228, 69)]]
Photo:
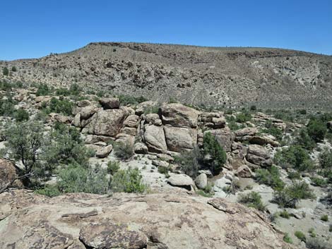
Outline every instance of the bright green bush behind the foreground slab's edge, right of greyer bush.
[(138, 169), (120, 169), (114, 174), (111, 181), (114, 192), (143, 193), (147, 186), (142, 182), (142, 176)]

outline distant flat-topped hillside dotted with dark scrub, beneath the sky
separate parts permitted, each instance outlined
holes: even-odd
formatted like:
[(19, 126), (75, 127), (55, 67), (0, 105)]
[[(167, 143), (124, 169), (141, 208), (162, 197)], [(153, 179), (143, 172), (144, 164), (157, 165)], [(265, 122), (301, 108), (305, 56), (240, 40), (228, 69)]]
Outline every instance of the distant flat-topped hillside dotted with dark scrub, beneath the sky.
[[(68, 86), (159, 102), (331, 107), (332, 58), (286, 49), (91, 43), (65, 54), (2, 61), (1, 79)], [(11, 68), (14, 70), (11, 71)]]

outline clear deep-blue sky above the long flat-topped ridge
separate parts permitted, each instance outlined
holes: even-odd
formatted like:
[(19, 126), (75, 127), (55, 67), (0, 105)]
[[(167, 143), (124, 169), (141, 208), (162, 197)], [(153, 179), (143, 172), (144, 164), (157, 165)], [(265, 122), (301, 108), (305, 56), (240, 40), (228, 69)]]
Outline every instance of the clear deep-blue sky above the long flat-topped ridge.
[(332, 54), (332, 0), (5, 0), (0, 6), (3, 60), (108, 41)]

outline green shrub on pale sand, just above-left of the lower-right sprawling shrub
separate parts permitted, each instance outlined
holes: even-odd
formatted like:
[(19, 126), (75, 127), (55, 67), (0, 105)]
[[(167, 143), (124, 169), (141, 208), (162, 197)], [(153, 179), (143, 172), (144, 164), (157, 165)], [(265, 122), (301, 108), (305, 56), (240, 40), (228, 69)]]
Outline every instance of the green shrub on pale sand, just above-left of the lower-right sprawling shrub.
[(282, 190), (285, 186), (276, 166), (271, 166), (270, 169), (257, 169), (255, 174), (255, 180), (260, 184), (271, 186), (275, 190)]

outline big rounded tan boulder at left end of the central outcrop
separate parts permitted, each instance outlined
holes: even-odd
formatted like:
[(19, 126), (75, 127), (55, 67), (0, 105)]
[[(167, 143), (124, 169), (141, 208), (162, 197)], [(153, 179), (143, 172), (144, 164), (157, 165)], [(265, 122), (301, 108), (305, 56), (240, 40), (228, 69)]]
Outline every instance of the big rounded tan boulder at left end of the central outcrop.
[(115, 136), (119, 133), (126, 116), (126, 109), (100, 110), (93, 115), (86, 128), (89, 134)]

